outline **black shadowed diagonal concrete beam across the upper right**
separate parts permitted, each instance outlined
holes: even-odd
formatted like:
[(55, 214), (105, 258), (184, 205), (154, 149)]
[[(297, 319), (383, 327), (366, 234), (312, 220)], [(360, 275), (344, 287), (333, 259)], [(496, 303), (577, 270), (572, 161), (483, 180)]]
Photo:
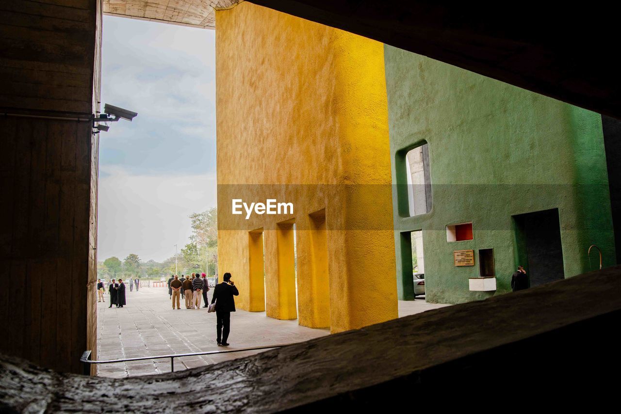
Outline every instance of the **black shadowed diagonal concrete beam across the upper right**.
[(621, 118), (619, 4), (252, 0)]

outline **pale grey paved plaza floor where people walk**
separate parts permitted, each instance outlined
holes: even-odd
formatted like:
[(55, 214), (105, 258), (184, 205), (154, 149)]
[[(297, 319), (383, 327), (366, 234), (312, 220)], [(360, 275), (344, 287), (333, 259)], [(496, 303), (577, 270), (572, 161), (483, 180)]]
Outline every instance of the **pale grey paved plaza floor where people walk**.
[[(211, 291), (209, 297), (211, 299)], [(106, 295), (109, 301), (109, 296)], [(181, 303), (173, 310), (165, 287), (143, 287), (138, 292), (127, 290), (127, 305), (108, 308), (97, 304), (97, 359), (122, 359), (163, 354), (250, 348), (252, 346), (292, 343), (329, 334), (327, 329), (297, 325), (297, 320), (277, 320), (265, 312), (238, 310), (231, 315), (230, 346), (215, 343), (215, 313), (206, 309), (191, 310)], [(424, 300), (399, 302), (399, 317), (424, 312), (444, 305), (427, 304)], [(175, 371), (241, 358), (261, 351), (209, 356), (175, 358)], [(170, 359), (102, 364), (100, 377), (128, 377), (170, 372)]]

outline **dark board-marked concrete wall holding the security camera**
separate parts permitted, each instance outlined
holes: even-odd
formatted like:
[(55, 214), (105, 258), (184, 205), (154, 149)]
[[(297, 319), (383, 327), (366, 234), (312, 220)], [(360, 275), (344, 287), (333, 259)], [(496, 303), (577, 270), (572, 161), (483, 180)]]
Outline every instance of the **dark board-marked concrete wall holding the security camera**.
[(68, 372), (96, 339), (100, 5), (0, 2), (0, 280), (27, 277), (0, 292), (0, 352)]

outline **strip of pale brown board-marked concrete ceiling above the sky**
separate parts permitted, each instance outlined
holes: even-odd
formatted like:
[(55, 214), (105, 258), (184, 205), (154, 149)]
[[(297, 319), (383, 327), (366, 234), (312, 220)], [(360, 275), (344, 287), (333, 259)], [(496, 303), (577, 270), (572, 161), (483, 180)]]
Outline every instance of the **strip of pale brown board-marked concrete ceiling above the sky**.
[(215, 9), (242, 0), (104, 0), (104, 14), (214, 29)]

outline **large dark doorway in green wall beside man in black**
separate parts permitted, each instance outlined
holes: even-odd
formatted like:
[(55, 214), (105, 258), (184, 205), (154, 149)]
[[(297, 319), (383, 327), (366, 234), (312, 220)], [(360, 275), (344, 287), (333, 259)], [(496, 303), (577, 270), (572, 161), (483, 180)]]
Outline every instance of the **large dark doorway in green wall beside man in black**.
[(517, 261), (530, 286), (564, 279), (563, 248), (558, 209), (514, 215)]

